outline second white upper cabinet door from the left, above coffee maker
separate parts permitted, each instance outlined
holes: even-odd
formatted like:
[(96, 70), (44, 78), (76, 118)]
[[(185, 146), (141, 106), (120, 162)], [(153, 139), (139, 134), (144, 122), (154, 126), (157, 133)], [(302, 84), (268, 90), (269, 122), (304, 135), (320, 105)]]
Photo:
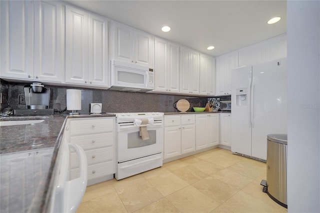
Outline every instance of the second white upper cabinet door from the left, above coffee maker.
[(64, 10), (58, 1), (34, 1), (34, 78), (64, 81)]

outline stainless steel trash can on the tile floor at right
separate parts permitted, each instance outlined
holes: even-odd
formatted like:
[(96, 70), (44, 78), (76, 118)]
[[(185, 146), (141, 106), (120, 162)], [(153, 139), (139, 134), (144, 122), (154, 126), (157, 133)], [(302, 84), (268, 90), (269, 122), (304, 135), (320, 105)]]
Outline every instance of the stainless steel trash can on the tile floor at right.
[(266, 181), (263, 191), (278, 204), (287, 208), (286, 195), (287, 135), (268, 134), (266, 154)]

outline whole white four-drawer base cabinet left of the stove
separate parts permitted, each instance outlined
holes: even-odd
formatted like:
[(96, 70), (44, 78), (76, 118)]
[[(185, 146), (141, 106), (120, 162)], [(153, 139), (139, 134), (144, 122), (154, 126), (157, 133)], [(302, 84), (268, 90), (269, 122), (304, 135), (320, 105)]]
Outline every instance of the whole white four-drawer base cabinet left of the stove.
[[(115, 173), (115, 117), (70, 118), (69, 142), (80, 145), (88, 164), (88, 185), (113, 178)], [(70, 153), (70, 179), (79, 176), (78, 159)]]

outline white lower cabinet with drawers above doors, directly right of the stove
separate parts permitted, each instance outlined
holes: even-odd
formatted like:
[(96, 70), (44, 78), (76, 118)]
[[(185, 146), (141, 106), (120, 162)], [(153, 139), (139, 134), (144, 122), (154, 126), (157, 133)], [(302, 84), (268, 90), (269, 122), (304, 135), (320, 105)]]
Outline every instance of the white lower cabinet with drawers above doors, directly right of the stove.
[(195, 116), (164, 116), (164, 159), (195, 150)]

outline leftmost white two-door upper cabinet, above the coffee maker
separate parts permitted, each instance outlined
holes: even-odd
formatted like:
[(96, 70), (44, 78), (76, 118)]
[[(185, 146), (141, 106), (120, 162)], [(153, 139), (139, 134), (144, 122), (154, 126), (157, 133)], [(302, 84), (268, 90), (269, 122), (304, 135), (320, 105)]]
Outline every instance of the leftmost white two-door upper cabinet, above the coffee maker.
[(64, 80), (64, 11), (57, 1), (1, 1), (1, 77)]

